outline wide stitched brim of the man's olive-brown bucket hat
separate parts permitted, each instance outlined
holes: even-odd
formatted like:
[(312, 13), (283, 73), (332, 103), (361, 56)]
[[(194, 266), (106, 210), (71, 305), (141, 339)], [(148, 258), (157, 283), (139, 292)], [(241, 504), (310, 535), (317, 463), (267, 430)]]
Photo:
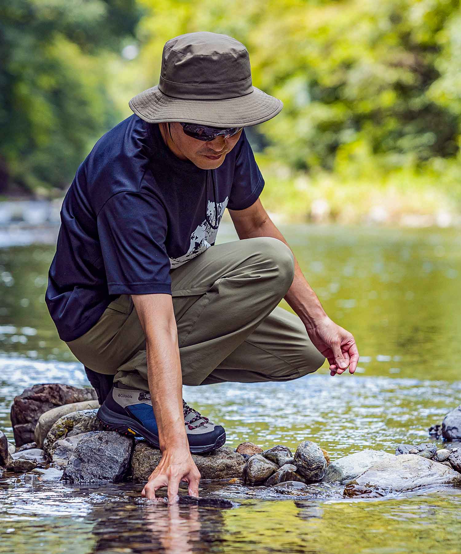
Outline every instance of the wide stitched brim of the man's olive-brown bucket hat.
[(283, 102), (256, 86), (245, 96), (224, 100), (185, 100), (163, 94), (158, 85), (143, 90), (128, 102), (144, 121), (183, 121), (211, 127), (249, 127), (275, 117)]

